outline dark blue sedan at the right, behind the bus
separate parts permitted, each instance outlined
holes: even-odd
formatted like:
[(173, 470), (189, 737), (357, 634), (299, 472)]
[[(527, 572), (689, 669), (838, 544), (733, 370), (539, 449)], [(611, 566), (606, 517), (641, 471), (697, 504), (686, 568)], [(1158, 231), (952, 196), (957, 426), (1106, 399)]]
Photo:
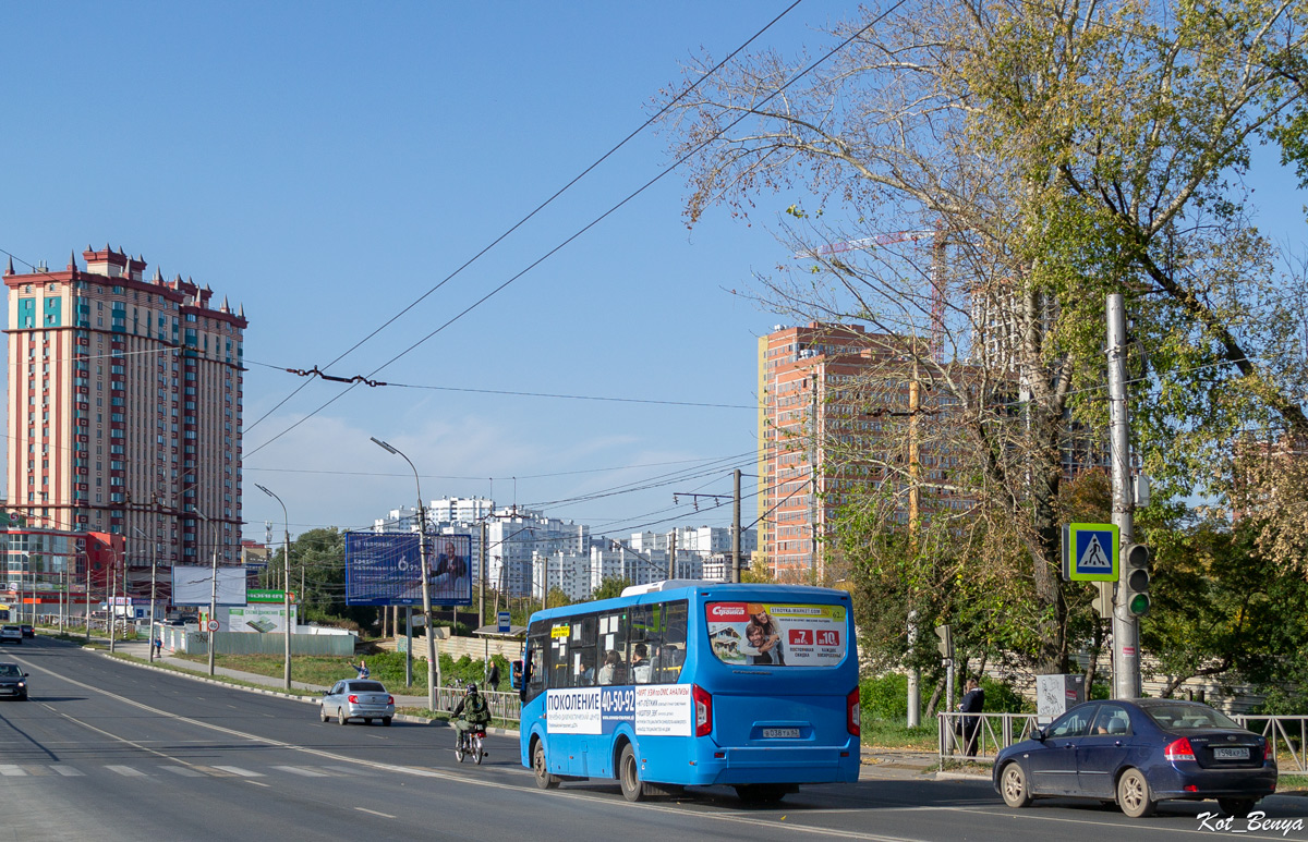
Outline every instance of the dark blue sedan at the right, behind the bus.
[(1277, 791), (1267, 740), (1198, 702), (1086, 702), (1031, 736), (994, 762), (994, 788), (1008, 807), (1087, 798), (1139, 818), (1162, 800), (1216, 799), (1243, 818)]

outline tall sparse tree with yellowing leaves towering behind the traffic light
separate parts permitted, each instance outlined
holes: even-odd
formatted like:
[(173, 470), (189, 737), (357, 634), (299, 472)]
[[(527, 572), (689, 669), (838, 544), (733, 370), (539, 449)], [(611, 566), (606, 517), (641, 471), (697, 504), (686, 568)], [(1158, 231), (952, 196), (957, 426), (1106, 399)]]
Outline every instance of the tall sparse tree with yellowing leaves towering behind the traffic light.
[[(1250, 144), (1304, 112), (1304, 9), (937, 0), (871, 14), (836, 26), (842, 46), (797, 84), (774, 54), (689, 69), (700, 84), (670, 129), (691, 165), (687, 217), (717, 203), (747, 216), (769, 194), (789, 205), (778, 234), (806, 260), (755, 294), (871, 324), (882, 362), (853, 387), (870, 407), (912, 363), (959, 463), (927, 481), (974, 501), (951, 553), (985, 569), (981, 613), (1007, 613), (1010, 641), (1063, 672), (1083, 641), (1059, 577), (1062, 452), (1103, 441), (1107, 294), (1126, 297), (1148, 360), (1137, 353), (1129, 399), (1160, 496), (1230, 493), (1240, 430), (1308, 438), (1287, 289), (1231, 180)], [(930, 246), (824, 248), (891, 231), (931, 231), (917, 238)], [(844, 454), (814, 446), (905, 488), (909, 426)]]

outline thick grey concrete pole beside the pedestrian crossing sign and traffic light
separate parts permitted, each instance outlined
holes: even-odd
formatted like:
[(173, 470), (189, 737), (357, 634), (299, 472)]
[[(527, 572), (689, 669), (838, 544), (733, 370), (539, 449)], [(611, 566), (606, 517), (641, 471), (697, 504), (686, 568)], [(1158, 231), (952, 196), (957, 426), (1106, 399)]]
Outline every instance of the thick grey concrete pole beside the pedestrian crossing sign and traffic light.
[[(1109, 460), (1113, 479), (1113, 526), (1122, 548), (1134, 543), (1134, 509), (1130, 489), (1130, 425), (1126, 414), (1126, 309), (1121, 293), (1108, 297), (1108, 413)], [(1113, 600), (1113, 698), (1139, 698), (1139, 620), (1125, 604), (1127, 565), (1118, 564)], [(1087, 688), (1088, 690), (1088, 688)]]

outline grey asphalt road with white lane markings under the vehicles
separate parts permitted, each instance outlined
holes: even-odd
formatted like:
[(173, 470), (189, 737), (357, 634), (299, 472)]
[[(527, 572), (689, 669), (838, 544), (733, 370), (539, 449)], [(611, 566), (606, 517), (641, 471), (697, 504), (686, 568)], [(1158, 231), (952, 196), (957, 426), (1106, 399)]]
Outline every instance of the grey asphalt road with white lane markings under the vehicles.
[[(1213, 803), (1007, 809), (988, 782), (874, 777), (747, 808), (726, 788), (628, 804), (616, 783), (539, 791), (517, 740), (462, 766), (445, 727), (322, 724), (292, 699), (143, 669), (41, 639), (0, 648), (31, 673), (31, 701), (0, 702), (0, 841), (21, 839), (1176, 839), (1213, 830)], [(878, 774), (874, 770), (871, 774)], [(1267, 818), (1308, 825), (1308, 799)], [(1247, 829), (1244, 822), (1237, 829)], [(1220, 833), (1220, 832), (1218, 832)], [(1224, 835), (1224, 834), (1223, 834)], [(1308, 839), (1308, 830), (1241, 833)]]

